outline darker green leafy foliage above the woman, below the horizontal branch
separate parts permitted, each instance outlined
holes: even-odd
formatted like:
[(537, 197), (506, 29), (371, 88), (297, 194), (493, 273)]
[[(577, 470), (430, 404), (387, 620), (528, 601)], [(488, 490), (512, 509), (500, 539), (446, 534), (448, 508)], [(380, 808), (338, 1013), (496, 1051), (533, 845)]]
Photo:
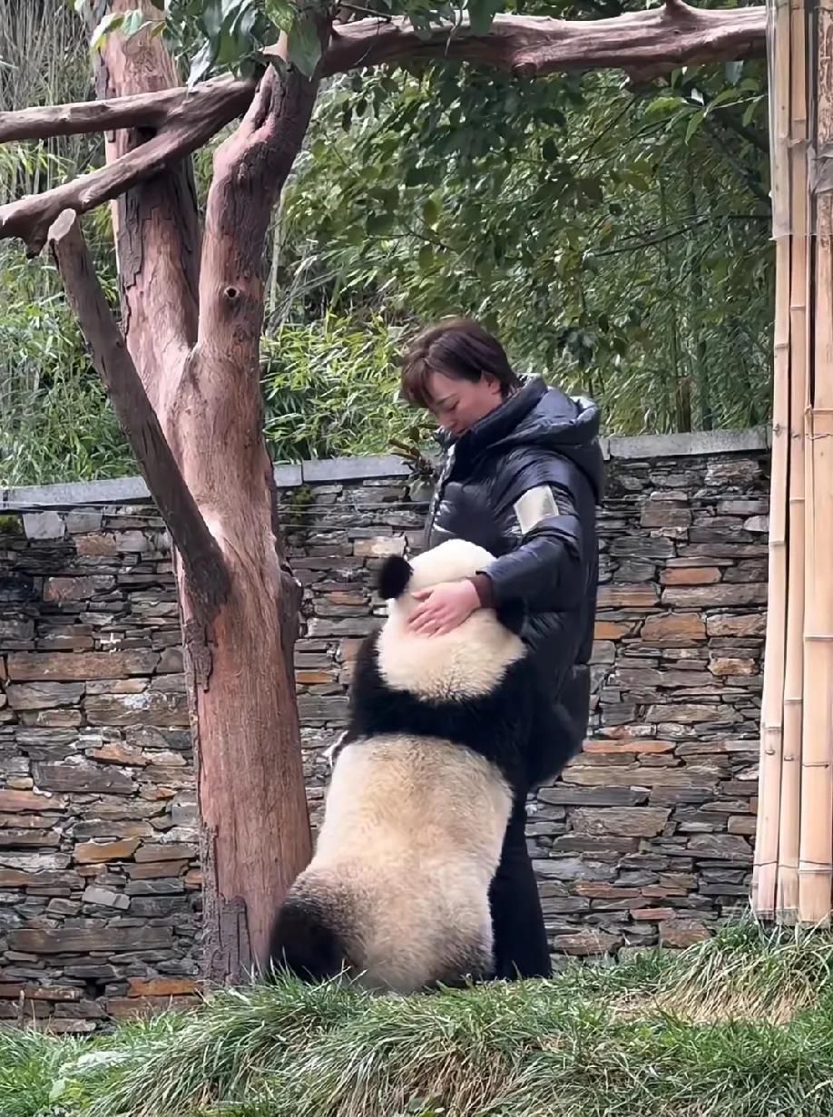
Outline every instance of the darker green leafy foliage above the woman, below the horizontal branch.
[(345, 76), (291, 180), (284, 254), (309, 313), (472, 314), (521, 365), (596, 395), (610, 430), (762, 422), (764, 90), (759, 65), (639, 97), (611, 74)]

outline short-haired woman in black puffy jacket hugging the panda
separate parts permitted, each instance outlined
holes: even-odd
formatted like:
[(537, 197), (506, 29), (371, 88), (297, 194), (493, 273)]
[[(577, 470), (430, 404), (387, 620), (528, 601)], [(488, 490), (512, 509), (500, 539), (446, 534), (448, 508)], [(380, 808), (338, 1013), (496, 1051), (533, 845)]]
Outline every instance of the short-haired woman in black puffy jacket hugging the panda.
[[(439, 636), (476, 609), (521, 600), (523, 638), (563, 714), (571, 751), (577, 751), (590, 712), (599, 580), (599, 409), (547, 388), (540, 376), (518, 378), (499, 342), (466, 318), (420, 334), (405, 359), (402, 391), (438, 420), (446, 451), (425, 545), (453, 536), (496, 555), (476, 577), (418, 594), (411, 624)], [(528, 757), (530, 789), (553, 774), (537, 760), (536, 766), (536, 756)], [(549, 947), (526, 847), (526, 796), (509, 820), (490, 901), (497, 976), (548, 976)]]

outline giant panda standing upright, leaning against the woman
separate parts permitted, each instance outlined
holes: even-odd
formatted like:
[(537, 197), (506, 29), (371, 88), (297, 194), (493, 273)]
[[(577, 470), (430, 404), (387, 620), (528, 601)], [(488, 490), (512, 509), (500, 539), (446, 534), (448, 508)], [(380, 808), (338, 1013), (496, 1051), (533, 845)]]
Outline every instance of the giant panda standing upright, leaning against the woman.
[(449, 540), (382, 564), (387, 618), (358, 651), (315, 856), (274, 925), (272, 966), (399, 993), (490, 975), (489, 885), (526, 753), (564, 738), (520, 608), (478, 609), (444, 636), (408, 619), (416, 591), (491, 561)]

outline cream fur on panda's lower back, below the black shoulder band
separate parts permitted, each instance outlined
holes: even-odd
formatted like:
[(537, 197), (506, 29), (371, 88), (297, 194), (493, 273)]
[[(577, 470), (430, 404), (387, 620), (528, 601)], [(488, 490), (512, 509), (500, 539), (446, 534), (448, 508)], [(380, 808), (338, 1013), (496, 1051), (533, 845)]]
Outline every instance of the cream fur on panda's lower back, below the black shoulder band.
[(437, 978), (451, 944), (490, 953), (488, 889), (510, 808), (494, 765), (449, 742), (344, 748), (308, 871), (351, 886), (360, 983), (408, 993)]

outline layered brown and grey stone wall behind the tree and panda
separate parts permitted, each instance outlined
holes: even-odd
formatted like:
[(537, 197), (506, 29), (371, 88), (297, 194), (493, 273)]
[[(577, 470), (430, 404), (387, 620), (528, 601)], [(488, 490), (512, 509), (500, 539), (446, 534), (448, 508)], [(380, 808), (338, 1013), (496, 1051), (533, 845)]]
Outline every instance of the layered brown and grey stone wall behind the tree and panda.
[[(612, 439), (590, 739), (530, 804), (556, 961), (683, 945), (745, 905), (768, 451)], [(425, 505), (396, 459), (277, 470), (305, 585), (314, 820), (383, 555)], [(3, 515), (3, 510), (8, 514)], [(142, 481), (0, 493), (0, 1020), (191, 1003), (200, 872), (167, 536)]]

